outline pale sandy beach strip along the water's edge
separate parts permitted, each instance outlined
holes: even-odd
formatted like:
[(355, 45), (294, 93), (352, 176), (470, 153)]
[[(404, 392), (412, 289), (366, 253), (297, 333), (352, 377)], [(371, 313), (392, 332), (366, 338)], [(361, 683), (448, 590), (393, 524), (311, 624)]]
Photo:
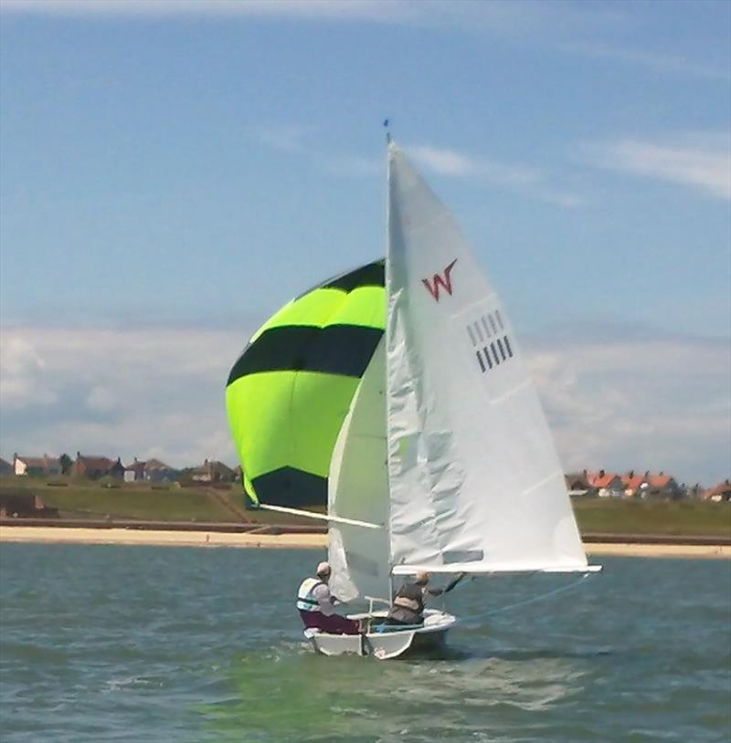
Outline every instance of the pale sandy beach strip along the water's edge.
[[(150, 547), (235, 547), (242, 549), (326, 549), (322, 533), (264, 534), (207, 529), (74, 528), (0, 526), (0, 542), (38, 544), (112, 544)], [(667, 557), (731, 559), (728, 544), (662, 544), (657, 542), (585, 542), (590, 557)]]

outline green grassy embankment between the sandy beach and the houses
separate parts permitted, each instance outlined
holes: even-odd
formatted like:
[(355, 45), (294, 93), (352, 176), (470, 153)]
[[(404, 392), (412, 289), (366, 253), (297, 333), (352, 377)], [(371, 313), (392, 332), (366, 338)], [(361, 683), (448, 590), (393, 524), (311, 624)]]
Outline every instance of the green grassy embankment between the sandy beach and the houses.
[[(58, 487), (58, 482), (65, 487)], [(261, 524), (307, 524), (311, 519), (270, 511), (246, 510), (241, 489), (151, 486), (124, 483), (104, 487), (68, 478), (48, 485), (46, 480), (3, 477), (0, 489), (29, 489), (61, 518), (134, 519), (179, 522), (250, 521)], [(578, 526), (584, 534), (681, 535), (731, 539), (731, 503), (700, 501), (630, 501), (609, 498), (576, 498)], [(319, 522), (318, 522), (319, 523)]]

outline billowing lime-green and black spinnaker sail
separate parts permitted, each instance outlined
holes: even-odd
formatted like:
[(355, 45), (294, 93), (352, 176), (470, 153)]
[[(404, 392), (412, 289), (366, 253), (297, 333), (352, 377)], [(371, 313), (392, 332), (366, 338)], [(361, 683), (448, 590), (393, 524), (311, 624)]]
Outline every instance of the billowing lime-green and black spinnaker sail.
[(251, 500), (323, 506), (335, 440), (386, 327), (384, 261), (285, 305), (228, 376), (228, 421)]

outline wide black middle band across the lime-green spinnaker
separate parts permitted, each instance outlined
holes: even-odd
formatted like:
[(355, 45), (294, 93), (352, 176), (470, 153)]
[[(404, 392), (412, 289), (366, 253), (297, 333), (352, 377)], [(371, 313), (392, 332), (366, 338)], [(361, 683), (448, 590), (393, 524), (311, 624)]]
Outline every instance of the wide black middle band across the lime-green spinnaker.
[(360, 325), (270, 328), (247, 346), (227, 384), (260, 371), (320, 371), (362, 377), (383, 332)]

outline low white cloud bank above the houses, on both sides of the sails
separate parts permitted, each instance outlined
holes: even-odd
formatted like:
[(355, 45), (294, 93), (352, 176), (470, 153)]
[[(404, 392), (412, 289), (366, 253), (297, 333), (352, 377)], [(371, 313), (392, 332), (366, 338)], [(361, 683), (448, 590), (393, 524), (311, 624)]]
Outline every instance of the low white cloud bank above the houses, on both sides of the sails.
[[(7, 328), (0, 449), (235, 464), (224, 388), (248, 337)], [(705, 484), (731, 474), (727, 342), (544, 338), (526, 348), (567, 469), (663, 469)]]

